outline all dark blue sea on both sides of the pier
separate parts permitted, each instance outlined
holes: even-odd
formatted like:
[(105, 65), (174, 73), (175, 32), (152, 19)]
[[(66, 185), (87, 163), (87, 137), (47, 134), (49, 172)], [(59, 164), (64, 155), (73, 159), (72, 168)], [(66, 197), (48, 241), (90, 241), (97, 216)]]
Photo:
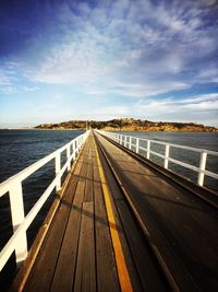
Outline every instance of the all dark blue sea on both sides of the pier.
[[(29, 166), (39, 159), (50, 154), (81, 133), (83, 133), (83, 131), (78, 130), (0, 130), (0, 183)], [(121, 133), (218, 152), (218, 132), (137, 131)], [(158, 144), (153, 144), (152, 150), (159, 151), (160, 153), (164, 153), (165, 151), (164, 148)], [(145, 155), (143, 151), (141, 151), (141, 154)], [(199, 163), (199, 154), (195, 154), (192, 151), (171, 149), (170, 156), (196, 166), (198, 166)], [(155, 155), (150, 155), (150, 159), (160, 165), (162, 164), (162, 160)], [(63, 164), (65, 161), (64, 155), (61, 161)], [(194, 183), (197, 182), (197, 174), (193, 171), (177, 166), (172, 163), (169, 163), (169, 168)], [(206, 168), (218, 173), (218, 156), (209, 155)], [(46, 187), (51, 183), (53, 176), (55, 165), (53, 162), (51, 162), (37, 171), (29, 178), (25, 179), (23, 183), (25, 214), (31, 210)], [(216, 179), (206, 177), (205, 186), (218, 191), (218, 184)], [(55, 196), (56, 194), (53, 191), (27, 231), (29, 246), (37, 234), (38, 227), (45, 219), (45, 214), (52, 203)], [(0, 249), (5, 245), (12, 235), (12, 232), (10, 202), (9, 196), (7, 195), (0, 198)], [(7, 288), (7, 283), (9, 283), (10, 279), (13, 277), (12, 271), (15, 271), (14, 255), (12, 255), (11, 260), (0, 273), (0, 287), (2, 288), (2, 291)]]

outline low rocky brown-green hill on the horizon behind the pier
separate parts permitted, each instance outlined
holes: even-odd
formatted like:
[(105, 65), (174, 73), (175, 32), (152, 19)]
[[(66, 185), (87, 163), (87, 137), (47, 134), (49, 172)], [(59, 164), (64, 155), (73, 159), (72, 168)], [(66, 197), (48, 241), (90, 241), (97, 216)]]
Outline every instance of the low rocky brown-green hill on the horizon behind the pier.
[[(107, 121), (89, 120), (88, 126), (109, 131), (218, 131), (215, 127), (194, 122), (149, 121), (134, 118), (111, 119)], [(58, 124), (41, 124), (36, 129), (85, 129), (86, 120), (70, 120)]]

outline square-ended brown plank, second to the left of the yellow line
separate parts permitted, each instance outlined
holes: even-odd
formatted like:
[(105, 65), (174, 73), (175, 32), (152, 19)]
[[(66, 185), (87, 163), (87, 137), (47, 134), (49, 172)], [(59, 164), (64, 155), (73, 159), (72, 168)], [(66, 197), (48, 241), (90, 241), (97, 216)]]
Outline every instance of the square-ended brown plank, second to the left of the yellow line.
[(94, 203), (84, 202), (74, 291), (96, 292)]

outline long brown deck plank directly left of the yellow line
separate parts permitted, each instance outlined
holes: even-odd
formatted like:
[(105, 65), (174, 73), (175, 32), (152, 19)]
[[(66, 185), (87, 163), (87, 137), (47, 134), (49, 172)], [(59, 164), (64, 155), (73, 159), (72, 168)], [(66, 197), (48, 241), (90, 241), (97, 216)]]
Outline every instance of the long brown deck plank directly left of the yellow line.
[(96, 272), (98, 292), (120, 291), (113, 248), (108, 226), (105, 201), (98, 173), (97, 161), (94, 161), (94, 198), (95, 198), (95, 234), (96, 234)]

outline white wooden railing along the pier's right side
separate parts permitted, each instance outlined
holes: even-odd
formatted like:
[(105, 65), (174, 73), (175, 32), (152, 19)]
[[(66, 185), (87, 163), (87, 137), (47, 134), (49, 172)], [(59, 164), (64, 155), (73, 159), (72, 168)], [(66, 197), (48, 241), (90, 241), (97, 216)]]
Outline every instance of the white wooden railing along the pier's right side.
[[(167, 142), (160, 142), (156, 140), (149, 140), (149, 139), (144, 139), (144, 138), (137, 138), (133, 136), (126, 136), (126, 135), (121, 135), (121, 133), (116, 133), (116, 132), (108, 132), (108, 131), (98, 131), (101, 135), (105, 135), (106, 137), (112, 139), (117, 143), (129, 148), (130, 150), (134, 150), (137, 154), (140, 154), (140, 150), (144, 151), (146, 153), (146, 159), (150, 160), (150, 154), (154, 154), (160, 159), (164, 160), (164, 167), (168, 168), (169, 162), (172, 162), (174, 164), (178, 164), (180, 166), (183, 166), (185, 168), (192, 170), (194, 172), (198, 173), (197, 177), (197, 184), (199, 186), (204, 186), (204, 178), (205, 175), (213, 177), (215, 179), (218, 179), (218, 174), (209, 172), (206, 170), (206, 163), (207, 163), (207, 156), (208, 155), (214, 155), (218, 156), (218, 152), (216, 151), (210, 151), (210, 150), (205, 150), (205, 149), (197, 149), (197, 148), (192, 148), (192, 147), (185, 147), (185, 145), (178, 145), (178, 144), (171, 144)], [(140, 145), (141, 141), (146, 142), (146, 148)], [(152, 144), (160, 144), (165, 147), (165, 154), (161, 154), (159, 152), (156, 152), (152, 150)], [(175, 160), (170, 157), (170, 149), (175, 148), (175, 149), (182, 149), (182, 150), (187, 150), (187, 151), (193, 151), (195, 153), (199, 153), (199, 163), (198, 167), (191, 165), (189, 163)]]

